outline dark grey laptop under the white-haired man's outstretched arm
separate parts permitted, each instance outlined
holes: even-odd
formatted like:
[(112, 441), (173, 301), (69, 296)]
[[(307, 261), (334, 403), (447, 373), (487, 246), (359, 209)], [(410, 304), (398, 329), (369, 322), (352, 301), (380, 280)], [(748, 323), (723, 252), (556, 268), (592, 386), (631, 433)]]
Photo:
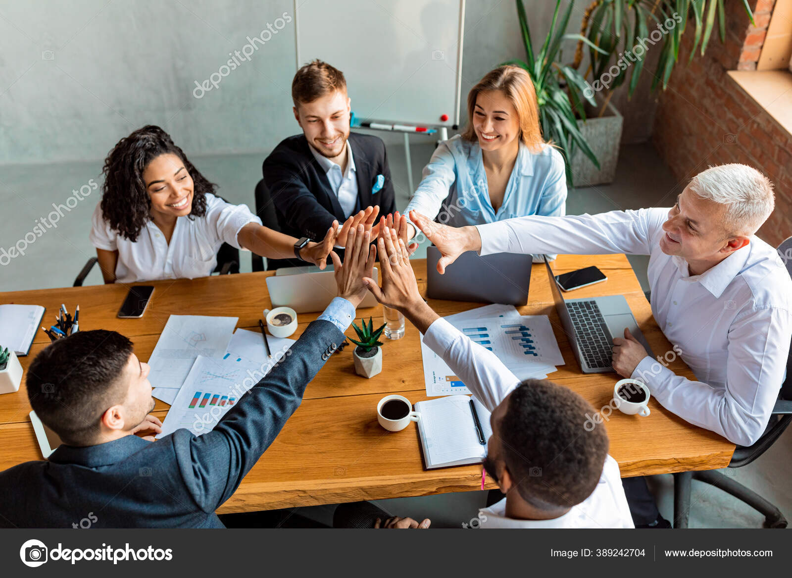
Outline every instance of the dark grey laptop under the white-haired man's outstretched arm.
[(426, 249), (426, 295), (431, 299), (524, 305), (531, 282), (531, 255), (496, 253), (481, 257), (473, 251), (459, 255), (437, 272), (440, 250)]

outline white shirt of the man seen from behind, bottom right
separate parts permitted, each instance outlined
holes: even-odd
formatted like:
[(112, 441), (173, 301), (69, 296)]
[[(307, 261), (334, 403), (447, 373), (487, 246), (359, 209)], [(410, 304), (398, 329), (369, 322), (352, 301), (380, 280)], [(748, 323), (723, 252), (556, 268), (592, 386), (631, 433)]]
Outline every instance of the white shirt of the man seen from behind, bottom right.
[[(424, 343), (440, 355), (470, 392), (489, 411), (520, 385), (492, 351), (473, 343), (459, 329), (440, 318), (429, 326)], [(565, 515), (551, 520), (518, 520), (505, 515), (506, 499), (479, 510), (482, 528), (632, 528), (630, 507), (624, 496), (619, 464), (611, 456), (605, 463), (591, 496)]]

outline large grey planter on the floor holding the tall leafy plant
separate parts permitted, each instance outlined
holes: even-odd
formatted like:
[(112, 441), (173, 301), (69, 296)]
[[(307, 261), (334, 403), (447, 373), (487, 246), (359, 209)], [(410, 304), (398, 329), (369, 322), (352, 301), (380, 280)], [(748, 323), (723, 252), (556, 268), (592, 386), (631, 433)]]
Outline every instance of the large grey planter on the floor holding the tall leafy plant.
[(596, 110), (588, 110), (588, 106), (586, 108), (586, 114), (592, 116), (585, 121), (577, 121), (577, 127), (581, 129), (584, 140), (600, 161), (600, 168), (597, 169), (583, 151), (576, 147), (571, 160), (572, 180), (574, 186), (604, 185), (613, 182), (616, 175), (624, 117), (610, 102), (602, 117), (596, 117)]

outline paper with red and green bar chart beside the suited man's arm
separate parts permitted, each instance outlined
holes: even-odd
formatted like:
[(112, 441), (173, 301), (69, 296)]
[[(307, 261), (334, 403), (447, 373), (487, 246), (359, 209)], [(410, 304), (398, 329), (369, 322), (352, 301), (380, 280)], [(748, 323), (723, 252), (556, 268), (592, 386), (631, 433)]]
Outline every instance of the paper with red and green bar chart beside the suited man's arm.
[(199, 355), (173, 399), (157, 438), (182, 427), (196, 435), (211, 431), (272, 365), (272, 360), (254, 362), (232, 354), (220, 359)]

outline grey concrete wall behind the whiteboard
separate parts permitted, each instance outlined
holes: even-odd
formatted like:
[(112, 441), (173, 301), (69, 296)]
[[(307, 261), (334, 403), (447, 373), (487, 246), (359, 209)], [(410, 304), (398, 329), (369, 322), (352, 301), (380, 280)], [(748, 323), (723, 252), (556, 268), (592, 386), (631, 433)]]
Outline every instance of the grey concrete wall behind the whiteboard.
[[(538, 44), (554, 3), (526, 5)], [(583, 10), (578, 2), (570, 31)], [(283, 13), (293, 13), (291, 0), (2, 0), (0, 164), (103, 159), (122, 136), (149, 123), (191, 155), (271, 150), (299, 130), (289, 98), (293, 21), (216, 90), (203, 98), (193, 91), (247, 36), (268, 24), (276, 29)], [(523, 56), (514, 2), (468, 0), (463, 94), (497, 63)], [(565, 59), (572, 57), (570, 43)], [(628, 142), (648, 137), (652, 98), (642, 99), (626, 113)]]

